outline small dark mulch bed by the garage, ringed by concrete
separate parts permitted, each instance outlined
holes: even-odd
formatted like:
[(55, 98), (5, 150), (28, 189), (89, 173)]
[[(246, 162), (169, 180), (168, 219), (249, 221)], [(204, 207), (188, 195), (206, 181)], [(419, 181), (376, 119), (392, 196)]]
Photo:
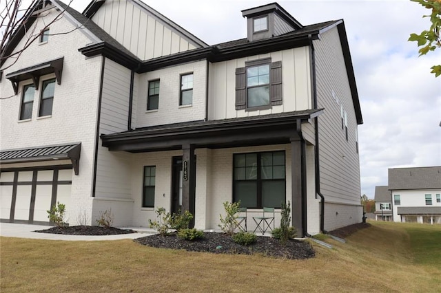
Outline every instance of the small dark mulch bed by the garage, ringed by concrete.
[(64, 234), (64, 235), (119, 235), (136, 233), (132, 229), (119, 229), (114, 227), (101, 226), (66, 226), (66, 227), (52, 227), (45, 230), (38, 230), (35, 232)]

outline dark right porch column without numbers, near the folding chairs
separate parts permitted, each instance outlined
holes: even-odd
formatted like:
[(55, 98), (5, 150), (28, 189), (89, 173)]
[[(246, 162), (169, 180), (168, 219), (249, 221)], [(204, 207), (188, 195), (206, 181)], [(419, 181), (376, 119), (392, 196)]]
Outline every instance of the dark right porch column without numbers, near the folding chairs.
[(292, 226), (297, 230), (297, 237), (303, 237), (302, 210), (302, 142), (291, 138), (291, 203)]

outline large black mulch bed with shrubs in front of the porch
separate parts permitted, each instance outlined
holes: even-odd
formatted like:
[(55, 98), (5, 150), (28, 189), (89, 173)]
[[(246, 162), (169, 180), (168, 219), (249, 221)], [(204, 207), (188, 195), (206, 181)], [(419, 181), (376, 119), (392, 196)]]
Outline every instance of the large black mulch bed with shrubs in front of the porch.
[(176, 237), (176, 233), (170, 233), (167, 236), (151, 235), (134, 239), (134, 241), (154, 248), (228, 254), (263, 254), (285, 259), (309, 259), (315, 255), (314, 249), (306, 241), (289, 240), (286, 246), (283, 246), (277, 239), (258, 236), (256, 243), (242, 246), (234, 242), (231, 236), (218, 232), (205, 232), (203, 239), (195, 241)]

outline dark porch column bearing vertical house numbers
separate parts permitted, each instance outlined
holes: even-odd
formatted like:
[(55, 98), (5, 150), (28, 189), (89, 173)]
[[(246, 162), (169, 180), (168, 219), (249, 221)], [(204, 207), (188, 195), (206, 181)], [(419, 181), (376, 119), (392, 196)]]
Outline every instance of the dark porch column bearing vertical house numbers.
[(188, 210), (193, 215), (190, 228), (194, 226), (194, 199), (196, 191), (196, 159), (194, 157), (194, 144), (182, 146), (182, 210)]

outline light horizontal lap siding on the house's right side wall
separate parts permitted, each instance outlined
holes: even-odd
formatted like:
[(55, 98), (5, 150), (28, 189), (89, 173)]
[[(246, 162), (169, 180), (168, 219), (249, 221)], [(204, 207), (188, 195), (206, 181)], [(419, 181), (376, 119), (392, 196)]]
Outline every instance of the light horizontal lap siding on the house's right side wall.
[[(314, 41), (318, 108), (325, 109), (318, 117), (320, 189), (325, 202), (360, 204), (356, 114), (338, 30), (332, 28), (321, 37)], [(340, 105), (347, 111), (348, 140), (342, 129)]]

